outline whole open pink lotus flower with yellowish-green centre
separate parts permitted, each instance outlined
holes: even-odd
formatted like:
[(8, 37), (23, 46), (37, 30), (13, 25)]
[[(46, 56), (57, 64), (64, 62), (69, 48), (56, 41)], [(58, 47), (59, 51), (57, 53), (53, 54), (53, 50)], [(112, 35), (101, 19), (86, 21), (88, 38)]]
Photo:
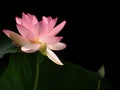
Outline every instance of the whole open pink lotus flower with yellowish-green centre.
[(52, 50), (62, 50), (66, 44), (60, 42), (63, 37), (56, 36), (66, 24), (66, 21), (56, 25), (57, 18), (42, 17), (38, 21), (35, 15), (22, 13), (22, 18), (16, 17), (16, 27), (20, 34), (4, 29), (3, 32), (25, 53), (40, 51), (58, 65), (63, 65)]

